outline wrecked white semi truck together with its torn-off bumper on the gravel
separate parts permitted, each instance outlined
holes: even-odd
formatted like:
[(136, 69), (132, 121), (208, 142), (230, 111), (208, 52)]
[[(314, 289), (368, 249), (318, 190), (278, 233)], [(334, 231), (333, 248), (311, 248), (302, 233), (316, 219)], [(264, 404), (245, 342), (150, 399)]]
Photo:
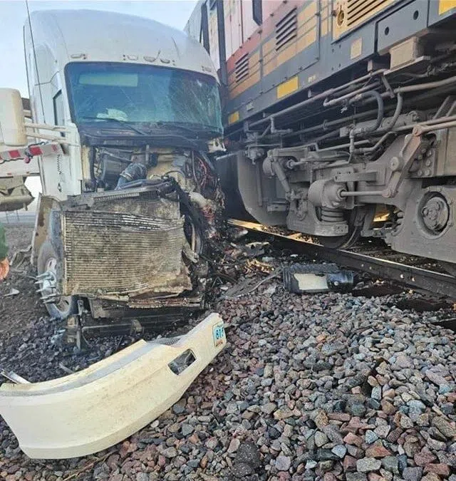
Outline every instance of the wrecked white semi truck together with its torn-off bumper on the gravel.
[[(24, 33), (31, 112), (0, 89), (0, 179), (41, 176), (32, 257), (48, 311), (77, 338), (199, 308), (222, 207), (206, 51), (155, 21), (98, 11), (36, 12)], [(225, 343), (210, 314), (185, 336), (138, 341), (53, 381), (10, 373), (0, 415), (30, 457), (88, 455), (170, 408)]]

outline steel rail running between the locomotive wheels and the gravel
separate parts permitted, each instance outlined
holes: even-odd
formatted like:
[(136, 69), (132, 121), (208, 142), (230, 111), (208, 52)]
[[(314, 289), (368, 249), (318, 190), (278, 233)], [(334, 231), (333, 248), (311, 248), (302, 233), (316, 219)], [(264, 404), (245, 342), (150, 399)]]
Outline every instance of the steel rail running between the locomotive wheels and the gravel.
[[(395, 256), (395, 254), (397, 254), (390, 250), (370, 249), (369, 253), (375, 255), (366, 255), (357, 252), (358, 247), (356, 250), (327, 249), (320, 244), (302, 239), (301, 234), (271, 232), (269, 227), (237, 219), (229, 219), (228, 223), (234, 227), (243, 227), (251, 232), (259, 232), (273, 236), (281, 244), (284, 244), (296, 253), (317, 257), (318, 259), (334, 262), (343, 267), (368, 272), (373, 276), (379, 276), (383, 279), (391, 279), (415, 289), (424, 289), (433, 294), (440, 294), (442, 296), (448, 296), (451, 299), (456, 299), (455, 276), (430, 269), (423, 269), (423, 267), (417, 267), (416, 265), (394, 262), (381, 257), (382, 252), (388, 256)], [(403, 257), (406, 257), (405, 254), (403, 254)], [(426, 261), (423, 260), (423, 262)], [(413, 264), (415, 263), (416, 260)]]

